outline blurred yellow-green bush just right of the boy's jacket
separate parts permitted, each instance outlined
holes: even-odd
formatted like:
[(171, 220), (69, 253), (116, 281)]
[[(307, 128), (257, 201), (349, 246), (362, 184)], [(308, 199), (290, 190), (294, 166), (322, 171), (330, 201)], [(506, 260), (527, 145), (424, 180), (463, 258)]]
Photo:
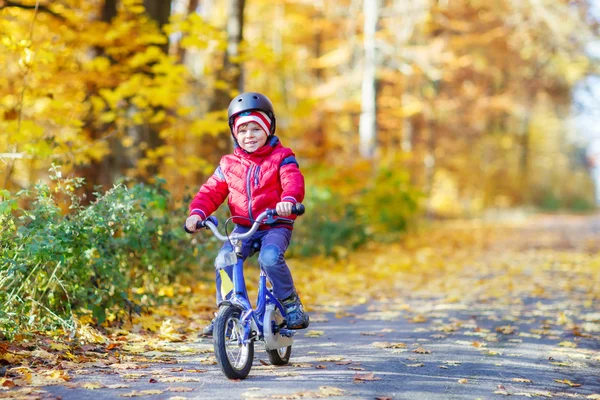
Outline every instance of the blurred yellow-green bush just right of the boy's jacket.
[(422, 195), (403, 169), (370, 164), (308, 171), (306, 216), (294, 228), (291, 255), (341, 255), (369, 233), (403, 232), (420, 212)]

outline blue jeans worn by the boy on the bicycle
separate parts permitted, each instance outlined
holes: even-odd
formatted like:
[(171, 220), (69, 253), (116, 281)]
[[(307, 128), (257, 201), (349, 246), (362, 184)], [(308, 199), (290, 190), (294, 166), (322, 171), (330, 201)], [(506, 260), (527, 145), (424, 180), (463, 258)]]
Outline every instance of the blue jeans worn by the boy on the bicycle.
[[(234, 232), (247, 232), (248, 228), (236, 226)], [(294, 280), (287, 266), (284, 254), (290, 245), (292, 231), (287, 228), (271, 228), (264, 231), (257, 231), (252, 237), (242, 242), (242, 257), (244, 260), (254, 255), (253, 244), (260, 243), (260, 253), (258, 255), (258, 264), (265, 271), (267, 278), (273, 286), (273, 294), (278, 299), (285, 299), (294, 293)], [(231, 281), (233, 280), (233, 265), (227, 263), (225, 254), (233, 251), (231, 244), (226, 242), (219, 250), (215, 260), (216, 284), (217, 284), (217, 305), (231, 295)], [(227, 274), (223, 276), (222, 274)], [(229, 280), (229, 282), (227, 282)], [(225, 285), (223, 285), (223, 281)], [(225, 293), (222, 293), (225, 292)]]

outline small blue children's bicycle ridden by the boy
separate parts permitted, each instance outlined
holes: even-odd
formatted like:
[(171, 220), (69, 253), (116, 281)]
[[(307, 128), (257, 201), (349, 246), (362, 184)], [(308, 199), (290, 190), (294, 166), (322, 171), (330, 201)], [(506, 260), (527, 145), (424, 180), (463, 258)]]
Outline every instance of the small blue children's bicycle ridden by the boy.
[[(304, 214), (304, 206), (296, 204), (292, 213)], [(233, 251), (225, 255), (228, 264), (234, 265), (233, 293), (229, 299), (219, 304), (213, 328), (215, 357), (229, 379), (244, 379), (248, 376), (252, 368), (256, 341), (265, 343), (267, 356), (273, 365), (287, 364), (292, 353), (295, 332), (286, 329), (285, 308), (267, 287), (265, 272), (262, 269), (260, 271), (255, 309), (248, 299), (244, 279), (242, 241), (250, 238), (261, 224), (274, 223), (275, 216), (277, 211), (267, 209), (256, 218), (249, 231), (229, 235), (219, 232), (218, 220), (214, 216), (197, 224), (198, 229), (210, 229), (215, 237), (223, 242), (230, 242), (233, 247)]]

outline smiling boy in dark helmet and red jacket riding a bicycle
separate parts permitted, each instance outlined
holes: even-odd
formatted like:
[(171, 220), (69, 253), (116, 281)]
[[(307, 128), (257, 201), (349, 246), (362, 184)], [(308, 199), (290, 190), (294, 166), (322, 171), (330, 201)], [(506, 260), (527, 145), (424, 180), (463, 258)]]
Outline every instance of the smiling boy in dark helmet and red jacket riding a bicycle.
[[(221, 158), (215, 173), (192, 200), (186, 227), (195, 231), (196, 223), (216, 211), (226, 197), (238, 232), (247, 231), (254, 216), (275, 208), (280, 216), (277, 223), (262, 225), (243, 243), (242, 255), (248, 257), (252, 244), (260, 242), (258, 262), (271, 281), (273, 294), (286, 308), (288, 328), (306, 328), (309, 318), (284, 260), (296, 218), (292, 206), (304, 199), (304, 177), (292, 150), (275, 136), (273, 105), (266, 96), (242, 93), (229, 104), (228, 115), (234, 152)], [(230, 293), (225, 289), (230, 285), (221, 283), (232, 275), (233, 266), (225, 263), (225, 254), (232, 250), (231, 244), (225, 243), (215, 261), (217, 304)], [(213, 323), (214, 319), (204, 328), (205, 336), (212, 336)]]

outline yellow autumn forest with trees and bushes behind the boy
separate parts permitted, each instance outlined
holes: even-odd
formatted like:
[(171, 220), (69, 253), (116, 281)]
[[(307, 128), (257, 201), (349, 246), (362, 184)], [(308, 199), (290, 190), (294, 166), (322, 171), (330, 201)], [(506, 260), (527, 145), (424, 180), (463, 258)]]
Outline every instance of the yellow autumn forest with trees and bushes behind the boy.
[(193, 290), (217, 243), (182, 223), (242, 91), (271, 98), (307, 180), (290, 256), (347, 257), (423, 216), (593, 210), (571, 122), (598, 68), (590, 7), (0, 0), (3, 335)]

